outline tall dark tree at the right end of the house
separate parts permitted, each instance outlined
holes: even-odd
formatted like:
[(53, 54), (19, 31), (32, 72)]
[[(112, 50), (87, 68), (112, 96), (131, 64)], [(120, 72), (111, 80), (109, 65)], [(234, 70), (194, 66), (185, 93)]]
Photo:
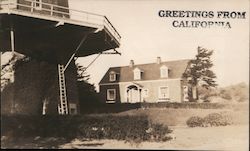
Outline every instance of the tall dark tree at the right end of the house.
[(189, 68), (183, 74), (183, 77), (192, 86), (192, 92), (193, 90), (196, 91), (196, 98), (191, 97), (193, 100), (199, 99), (198, 86), (206, 89), (217, 86), (215, 81), (216, 75), (211, 70), (213, 67), (211, 61), (212, 54), (212, 50), (198, 47), (198, 54), (195, 56), (195, 59), (189, 61)]

